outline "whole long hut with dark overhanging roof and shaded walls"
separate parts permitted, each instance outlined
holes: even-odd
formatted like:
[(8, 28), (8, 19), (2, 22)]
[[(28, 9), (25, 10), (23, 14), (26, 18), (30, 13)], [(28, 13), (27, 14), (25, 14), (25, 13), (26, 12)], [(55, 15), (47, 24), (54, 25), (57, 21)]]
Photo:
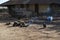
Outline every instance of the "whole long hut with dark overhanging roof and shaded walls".
[(0, 6), (7, 6), (9, 14), (16, 17), (58, 16), (60, 14), (60, 0), (10, 0)]

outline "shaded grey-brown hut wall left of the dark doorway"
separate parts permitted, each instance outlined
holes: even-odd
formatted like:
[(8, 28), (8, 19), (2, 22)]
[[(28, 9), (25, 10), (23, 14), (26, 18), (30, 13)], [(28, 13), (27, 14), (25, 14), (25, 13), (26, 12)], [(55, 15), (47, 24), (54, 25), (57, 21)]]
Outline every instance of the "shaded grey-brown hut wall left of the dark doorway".
[(34, 5), (14, 5), (9, 7), (10, 14), (13, 16), (32, 16), (35, 12)]

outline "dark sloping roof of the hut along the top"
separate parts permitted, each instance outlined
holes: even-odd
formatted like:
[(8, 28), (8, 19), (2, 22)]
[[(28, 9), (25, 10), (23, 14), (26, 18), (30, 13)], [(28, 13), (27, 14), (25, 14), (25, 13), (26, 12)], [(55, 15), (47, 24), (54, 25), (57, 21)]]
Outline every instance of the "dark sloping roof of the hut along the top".
[(60, 4), (60, 0), (16, 0), (16, 1), (7, 1), (1, 5), (16, 5), (16, 4), (51, 4), (57, 3)]

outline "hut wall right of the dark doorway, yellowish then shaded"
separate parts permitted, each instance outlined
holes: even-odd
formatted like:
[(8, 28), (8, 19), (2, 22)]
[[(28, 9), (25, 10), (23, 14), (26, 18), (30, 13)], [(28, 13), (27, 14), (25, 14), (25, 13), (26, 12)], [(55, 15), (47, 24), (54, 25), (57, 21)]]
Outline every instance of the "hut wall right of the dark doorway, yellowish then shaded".
[(39, 13), (43, 13), (46, 16), (60, 16), (60, 6), (59, 5), (39, 5)]

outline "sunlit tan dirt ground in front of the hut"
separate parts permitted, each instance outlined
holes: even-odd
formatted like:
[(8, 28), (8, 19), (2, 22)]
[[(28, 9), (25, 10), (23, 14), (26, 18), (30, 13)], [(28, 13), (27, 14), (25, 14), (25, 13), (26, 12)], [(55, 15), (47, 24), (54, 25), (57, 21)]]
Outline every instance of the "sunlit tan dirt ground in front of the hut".
[(0, 40), (60, 40), (59, 25), (31, 24), (28, 27), (10, 27), (0, 23)]

